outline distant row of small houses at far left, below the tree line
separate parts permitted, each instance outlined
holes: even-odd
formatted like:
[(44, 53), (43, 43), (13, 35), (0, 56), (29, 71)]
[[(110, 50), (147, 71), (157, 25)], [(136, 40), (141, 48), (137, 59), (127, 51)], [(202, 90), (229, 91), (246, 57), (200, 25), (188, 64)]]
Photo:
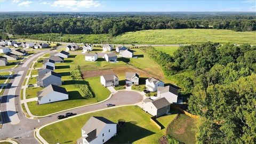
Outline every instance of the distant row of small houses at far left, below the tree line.
[(43, 49), (49, 47), (47, 43), (33, 43), (33, 42), (16, 42), (12, 40), (1, 40), (1, 46), (9, 45), (14, 47), (23, 47), (23, 48), (34, 48), (34, 49)]

